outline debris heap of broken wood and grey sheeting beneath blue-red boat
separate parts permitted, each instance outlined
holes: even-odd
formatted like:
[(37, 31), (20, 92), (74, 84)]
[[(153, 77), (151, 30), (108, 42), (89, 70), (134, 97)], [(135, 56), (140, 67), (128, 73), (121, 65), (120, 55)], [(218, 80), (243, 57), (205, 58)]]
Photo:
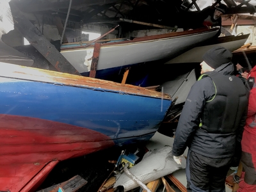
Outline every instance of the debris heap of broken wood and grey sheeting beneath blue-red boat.
[[(119, 155), (117, 156), (117, 153)], [(96, 154), (95, 154), (96, 155)], [(92, 155), (92, 162), (88, 157), (84, 157), (79, 161), (83, 163), (92, 163), (83, 166), (76, 161), (68, 163), (68, 166), (60, 166), (55, 173), (49, 175), (53, 180), (56, 174), (64, 179), (65, 172), (76, 174), (71, 179), (42, 189), (38, 192), (45, 191), (97, 191), (97, 192), (118, 192), (118, 191), (156, 191), (164, 188), (166, 191), (172, 191), (172, 179), (170, 175), (186, 167), (186, 159), (182, 159), (182, 164), (177, 164), (173, 160), (172, 147), (170, 145), (156, 146), (153, 150), (148, 150), (145, 145), (129, 146), (127, 148), (118, 148), (115, 154), (111, 154), (109, 150), (97, 154), (98, 158)], [(87, 158), (87, 159), (86, 159)], [(108, 159), (108, 160), (107, 160)], [(89, 161), (88, 161), (89, 160)], [(76, 162), (76, 163), (75, 163)], [(80, 163), (81, 163), (80, 162)], [(72, 165), (73, 164), (73, 165)], [(80, 168), (75, 168), (76, 164)], [(90, 168), (88, 168), (90, 166)], [(77, 169), (77, 171), (76, 171)], [(57, 171), (58, 170), (58, 171)], [(60, 171), (61, 170), (61, 171)], [(57, 172), (57, 173), (56, 173)], [(80, 175), (80, 176), (79, 176)], [(94, 176), (93, 176), (94, 175)], [(58, 177), (58, 176), (57, 176)], [(66, 177), (68, 178), (68, 177)], [(59, 180), (60, 181), (60, 180)], [(54, 180), (54, 182), (58, 182)], [(63, 187), (69, 182), (69, 188)], [(70, 187), (70, 183), (72, 186)], [(45, 182), (47, 185), (47, 182)], [(48, 182), (49, 185), (49, 182)], [(71, 190), (72, 188), (72, 190)], [(161, 189), (161, 191), (164, 191)], [(171, 190), (172, 189), (172, 190)]]

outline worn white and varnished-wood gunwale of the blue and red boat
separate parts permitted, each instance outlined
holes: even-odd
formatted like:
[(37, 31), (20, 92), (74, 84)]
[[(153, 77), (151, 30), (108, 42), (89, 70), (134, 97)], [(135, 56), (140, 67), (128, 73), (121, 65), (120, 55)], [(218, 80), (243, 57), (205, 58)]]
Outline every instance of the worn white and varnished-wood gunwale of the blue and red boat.
[[(103, 79), (95, 79), (92, 77), (76, 76), (72, 74), (66, 74), (61, 72), (55, 72), (51, 70), (45, 70), (41, 68), (24, 67), (14, 65), (10, 63), (0, 62), (0, 65), (10, 65), (10, 71), (8, 74), (4, 74), (3, 70), (0, 71), (0, 77), (19, 79), (22, 81), (34, 81), (41, 83), (56, 84), (58, 86), (72, 86), (77, 88), (88, 88), (90, 90), (108, 91), (115, 93), (122, 93), (127, 95), (140, 95), (144, 97), (154, 97), (157, 99), (172, 100), (171, 96), (156, 92), (154, 90), (148, 90), (141, 86), (134, 86), (131, 84), (115, 83), (113, 81), (106, 81)], [(13, 67), (12, 67), (13, 66)], [(8, 67), (3, 67), (4, 69)], [(29, 69), (29, 73), (26, 70)], [(33, 74), (35, 72), (35, 74)], [(40, 74), (36, 74), (40, 72)], [(99, 85), (99, 86), (98, 86)]]

